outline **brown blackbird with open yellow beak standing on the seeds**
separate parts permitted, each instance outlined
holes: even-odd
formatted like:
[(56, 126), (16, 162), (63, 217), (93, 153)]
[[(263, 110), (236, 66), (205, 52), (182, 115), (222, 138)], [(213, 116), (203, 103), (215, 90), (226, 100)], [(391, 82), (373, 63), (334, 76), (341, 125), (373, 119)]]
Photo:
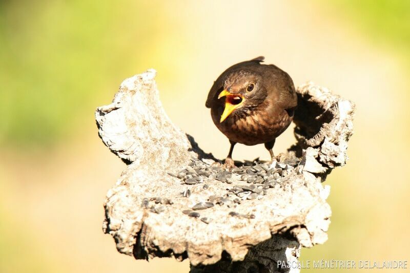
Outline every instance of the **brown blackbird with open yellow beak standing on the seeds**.
[(236, 143), (265, 144), (271, 154), (276, 138), (291, 124), (297, 96), (292, 78), (263, 56), (225, 70), (214, 82), (206, 107), (216, 127), (231, 142), (224, 167), (232, 169)]

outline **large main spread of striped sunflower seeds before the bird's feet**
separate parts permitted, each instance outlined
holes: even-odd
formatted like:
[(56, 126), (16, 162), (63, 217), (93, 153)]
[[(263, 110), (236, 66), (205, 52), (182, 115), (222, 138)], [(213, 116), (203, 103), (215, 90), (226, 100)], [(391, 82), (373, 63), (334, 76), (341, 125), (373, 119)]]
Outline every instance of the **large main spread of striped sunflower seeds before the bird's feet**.
[[(220, 164), (217, 165), (210, 159), (192, 158), (188, 166), (184, 167), (179, 173), (168, 173), (181, 180), (181, 184), (187, 185), (184, 192), (179, 197), (189, 198), (191, 185), (203, 184), (203, 189), (207, 190), (209, 184), (219, 181), (227, 184), (227, 192), (223, 196), (211, 195), (208, 202), (199, 202), (191, 209), (182, 211), (190, 217), (199, 218), (198, 211), (213, 207), (214, 205), (227, 205), (236, 207), (245, 200), (262, 199), (269, 188), (276, 185), (280, 186), (283, 178), (296, 171), (299, 159), (294, 158), (286, 162), (264, 162), (259, 159), (244, 161), (241, 166), (234, 167), (228, 171)], [(230, 216), (254, 218), (253, 215), (241, 215), (230, 212)], [(212, 219), (201, 218), (204, 223), (209, 223)]]

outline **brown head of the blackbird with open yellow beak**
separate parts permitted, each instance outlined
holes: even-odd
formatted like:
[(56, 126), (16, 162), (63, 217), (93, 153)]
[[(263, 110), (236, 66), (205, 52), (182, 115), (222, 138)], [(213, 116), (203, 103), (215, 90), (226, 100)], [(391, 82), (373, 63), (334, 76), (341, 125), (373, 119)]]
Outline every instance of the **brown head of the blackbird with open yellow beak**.
[(219, 122), (231, 114), (258, 106), (266, 96), (261, 75), (246, 70), (230, 73), (218, 95), (218, 99), (225, 97), (225, 108)]

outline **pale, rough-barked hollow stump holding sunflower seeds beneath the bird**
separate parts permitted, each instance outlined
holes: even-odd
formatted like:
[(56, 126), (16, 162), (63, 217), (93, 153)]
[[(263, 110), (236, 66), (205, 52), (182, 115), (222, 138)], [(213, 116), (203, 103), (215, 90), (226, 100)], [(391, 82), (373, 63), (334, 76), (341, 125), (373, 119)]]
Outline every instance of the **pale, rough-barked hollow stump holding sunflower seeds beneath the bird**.
[(322, 182), (346, 163), (354, 104), (311, 82), (298, 87), (296, 144), (228, 172), (168, 118), (155, 73), (124, 80), (95, 112), (100, 138), (127, 163), (107, 193), (104, 232), (120, 253), (189, 258), (191, 272), (298, 272), (301, 246), (327, 240)]

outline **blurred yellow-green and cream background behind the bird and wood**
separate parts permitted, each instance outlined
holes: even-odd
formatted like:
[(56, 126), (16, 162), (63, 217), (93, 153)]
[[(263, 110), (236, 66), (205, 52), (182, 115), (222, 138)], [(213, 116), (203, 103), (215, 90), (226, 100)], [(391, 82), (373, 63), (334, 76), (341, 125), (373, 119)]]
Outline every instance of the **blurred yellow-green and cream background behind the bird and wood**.
[[(357, 106), (351, 159), (325, 182), (329, 240), (301, 260), (408, 260), (409, 48), (409, 1), (1, 1), (0, 272), (188, 272), (120, 255), (101, 232), (125, 165), (93, 112), (155, 68), (171, 119), (223, 158), (204, 101), (220, 72), (259, 55)], [(290, 129), (275, 152), (293, 141)], [(266, 154), (242, 145), (234, 157)]]

